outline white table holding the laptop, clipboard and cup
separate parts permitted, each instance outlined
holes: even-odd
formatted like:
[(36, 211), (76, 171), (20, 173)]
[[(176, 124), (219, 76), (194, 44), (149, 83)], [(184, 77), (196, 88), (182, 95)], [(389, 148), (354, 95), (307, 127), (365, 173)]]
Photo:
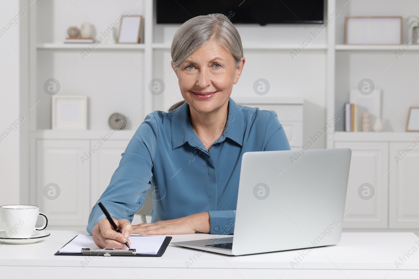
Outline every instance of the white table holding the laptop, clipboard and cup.
[[(413, 233), (342, 233), (338, 245), (248, 256), (203, 253), (172, 244), (162, 257), (54, 256), (85, 231), (49, 230), (38, 243), (0, 247), (0, 278), (419, 278), (419, 238)], [(207, 234), (171, 235), (172, 242), (211, 238)], [(224, 237), (224, 236), (223, 236)], [(249, 241), (257, 241), (254, 240)], [(286, 240), (284, 240), (286, 241)], [(292, 268), (290, 261), (307, 254)], [(404, 253), (412, 254), (404, 263)], [(191, 260), (195, 256), (196, 260)], [(82, 261), (88, 263), (83, 268)], [(189, 261), (189, 266), (187, 266)], [(395, 261), (401, 263), (398, 268)], [(189, 267), (189, 268), (188, 268)], [(281, 277), (282, 276), (282, 277)]]

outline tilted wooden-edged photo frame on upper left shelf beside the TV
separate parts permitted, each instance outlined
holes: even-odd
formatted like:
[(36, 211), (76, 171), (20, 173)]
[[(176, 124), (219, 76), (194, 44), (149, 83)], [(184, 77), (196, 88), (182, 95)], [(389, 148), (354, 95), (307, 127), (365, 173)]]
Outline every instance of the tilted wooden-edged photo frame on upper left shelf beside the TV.
[(119, 26), (118, 44), (139, 44), (142, 15), (128, 15)]

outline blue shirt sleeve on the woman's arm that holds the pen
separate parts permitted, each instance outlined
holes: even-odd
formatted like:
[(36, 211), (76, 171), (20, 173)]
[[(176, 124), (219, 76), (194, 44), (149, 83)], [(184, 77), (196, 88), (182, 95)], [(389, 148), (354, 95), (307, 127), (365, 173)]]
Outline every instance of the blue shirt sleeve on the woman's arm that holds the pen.
[[(132, 222), (134, 214), (140, 209), (151, 187), (153, 161), (158, 142), (158, 129), (155, 116), (147, 115), (129, 141), (119, 166), (112, 175), (109, 186), (98, 202), (109, 211), (109, 214), (120, 220)], [(105, 215), (97, 203), (93, 207), (86, 230), (92, 234), (93, 227)]]

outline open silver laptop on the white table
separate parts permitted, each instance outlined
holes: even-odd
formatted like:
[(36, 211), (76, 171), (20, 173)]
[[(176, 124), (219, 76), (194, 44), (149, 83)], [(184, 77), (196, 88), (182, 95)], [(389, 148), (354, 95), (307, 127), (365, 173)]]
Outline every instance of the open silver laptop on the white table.
[(246, 152), (234, 235), (172, 244), (226, 255), (337, 244), (350, 161), (349, 148)]

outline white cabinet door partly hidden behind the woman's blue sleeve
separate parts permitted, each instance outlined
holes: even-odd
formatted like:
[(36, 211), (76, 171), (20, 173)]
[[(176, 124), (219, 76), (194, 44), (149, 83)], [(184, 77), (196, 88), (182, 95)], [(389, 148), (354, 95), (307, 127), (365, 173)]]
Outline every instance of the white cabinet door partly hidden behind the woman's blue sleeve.
[[(98, 141), (92, 140), (92, 149), (95, 148)], [(96, 204), (99, 197), (108, 187), (111, 181), (112, 174), (114, 174), (116, 168), (119, 166), (121, 161), (121, 154), (125, 151), (129, 140), (113, 140), (103, 143), (101, 148), (96, 148), (95, 154), (91, 159), (92, 164), (92, 192), (90, 209)]]

